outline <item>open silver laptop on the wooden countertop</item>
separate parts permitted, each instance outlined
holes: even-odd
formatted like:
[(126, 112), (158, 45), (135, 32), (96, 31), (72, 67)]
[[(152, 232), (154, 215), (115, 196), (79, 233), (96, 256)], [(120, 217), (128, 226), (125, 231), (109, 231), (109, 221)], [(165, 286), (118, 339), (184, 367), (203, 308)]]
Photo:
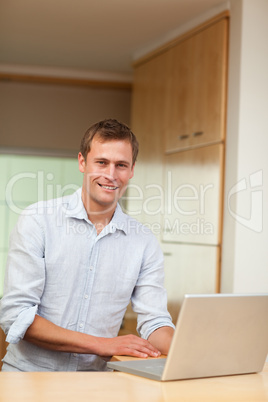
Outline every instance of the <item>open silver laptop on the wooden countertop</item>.
[(167, 358), (111, 361), (108, 368), (159, 381), (262, 371), (268, 294), (185, 295)]

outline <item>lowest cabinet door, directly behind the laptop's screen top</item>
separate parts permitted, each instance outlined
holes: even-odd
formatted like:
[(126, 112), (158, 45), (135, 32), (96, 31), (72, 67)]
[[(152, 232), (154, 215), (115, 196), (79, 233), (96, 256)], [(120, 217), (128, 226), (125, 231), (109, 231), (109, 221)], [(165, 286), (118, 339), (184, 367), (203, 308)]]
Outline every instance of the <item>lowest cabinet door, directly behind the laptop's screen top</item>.
[(162, 243), (168, 309), (176, 321), (185, 294), (219, 291), (219, 246)]

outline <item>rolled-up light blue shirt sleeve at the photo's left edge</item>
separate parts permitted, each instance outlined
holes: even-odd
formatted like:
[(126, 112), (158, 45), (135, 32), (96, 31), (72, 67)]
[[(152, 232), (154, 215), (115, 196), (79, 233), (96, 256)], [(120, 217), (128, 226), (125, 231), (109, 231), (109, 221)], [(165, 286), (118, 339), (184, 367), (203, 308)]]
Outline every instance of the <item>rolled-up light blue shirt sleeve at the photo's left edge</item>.
[(40, 304), (45, 282), (44, 234), (38, 215), (26, 209), (10, 237), (10, 248), (0, 301), (0, 325), (7, 342), (23, 339)]

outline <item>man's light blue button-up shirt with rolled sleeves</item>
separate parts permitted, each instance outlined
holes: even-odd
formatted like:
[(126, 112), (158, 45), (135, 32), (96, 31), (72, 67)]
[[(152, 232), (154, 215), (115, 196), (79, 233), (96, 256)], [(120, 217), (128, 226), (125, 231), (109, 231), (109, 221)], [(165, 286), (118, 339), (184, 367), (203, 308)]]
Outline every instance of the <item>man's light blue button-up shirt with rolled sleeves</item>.
[(11, 235), (0, 301), (0, 325), (10, 343), (3, 369), (105, 370), (99, 356), (49, 351), (24, 341), (35, 315), (110, 338), (117, 336), (131, 299), (137, 330), (147, 339), (161, 326), (174, 328), (163, 284), (163, 254), (156, 238), (119, 205), (99, 235), (81, 189), (31, 205)]

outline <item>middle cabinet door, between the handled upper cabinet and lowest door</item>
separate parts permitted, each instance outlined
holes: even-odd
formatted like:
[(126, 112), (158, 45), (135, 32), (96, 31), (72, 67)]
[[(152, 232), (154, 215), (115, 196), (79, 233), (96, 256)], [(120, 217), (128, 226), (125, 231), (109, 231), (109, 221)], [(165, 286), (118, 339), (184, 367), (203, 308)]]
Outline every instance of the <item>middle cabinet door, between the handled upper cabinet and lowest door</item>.
[(163, 240), (221, 242), (223, 144), (165, 156)]

